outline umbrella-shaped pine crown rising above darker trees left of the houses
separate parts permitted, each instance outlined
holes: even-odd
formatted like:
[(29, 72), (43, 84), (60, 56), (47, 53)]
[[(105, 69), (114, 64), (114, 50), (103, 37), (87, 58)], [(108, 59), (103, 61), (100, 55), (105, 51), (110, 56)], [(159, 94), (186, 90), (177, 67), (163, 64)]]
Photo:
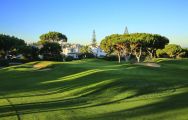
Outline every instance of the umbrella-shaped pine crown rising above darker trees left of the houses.
[(60, 32), (48, 32), (45, 34), (42, 34), (40, 36), (40, 41), (42, 43), (48, 41), (48, 42), (58, 42), (58, 41), (63, 41), (63, 42), (67, 42), (67, 37), (66, 35), (60, 33)]

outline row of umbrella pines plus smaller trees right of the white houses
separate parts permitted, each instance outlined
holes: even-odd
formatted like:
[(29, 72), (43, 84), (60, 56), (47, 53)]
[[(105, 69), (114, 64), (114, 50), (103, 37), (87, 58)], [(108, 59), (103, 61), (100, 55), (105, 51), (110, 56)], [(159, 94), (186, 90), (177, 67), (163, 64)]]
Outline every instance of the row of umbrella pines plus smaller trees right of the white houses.
[(121, 58), (124, 58), (127, 62), (136, 58), (137, 62), (140, 62), (141, 57), (153, 59), (161, 57), (164, 54), (173, 57), (175, 54), (173, 53), (174, 51), (178, 51), (176, 52), (178, 54), (186, 54), (186, 50), (182, 53), (183, 51), (180, 46), (177, 48), (177, 46), (168, 44), (169, 39), (159, 34), (132, 33), (106, 36), (101, 41), (100, 47), (108, 56), (117, 55), (119, 63), (121, 62)]

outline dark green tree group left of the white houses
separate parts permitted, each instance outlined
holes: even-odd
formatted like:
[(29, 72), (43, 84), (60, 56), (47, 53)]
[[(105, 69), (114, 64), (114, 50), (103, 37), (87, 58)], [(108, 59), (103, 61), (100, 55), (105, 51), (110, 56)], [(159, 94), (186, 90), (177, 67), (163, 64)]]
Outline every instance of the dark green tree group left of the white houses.
[(66, 35), (59, 32), (48, 32), (39, 38), (37, 43), (26, 44), (24, 40), (17, 37), (0, 34), (0, 59), (10, 60), (19, 54), (22, 54), (28, 61), (39, 60), (39, 55), (42, 55), (44, 60), (61, 58), (62, 49), (58, 42), (66, 42)]

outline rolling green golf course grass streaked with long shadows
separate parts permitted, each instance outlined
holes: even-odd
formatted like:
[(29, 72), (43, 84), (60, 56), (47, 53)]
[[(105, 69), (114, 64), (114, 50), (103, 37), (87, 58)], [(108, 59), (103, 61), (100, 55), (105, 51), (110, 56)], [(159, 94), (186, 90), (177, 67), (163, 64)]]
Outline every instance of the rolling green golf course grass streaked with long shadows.
[(0, 69), (0, 120), (187, 120), (188, 59), (97, 59)]

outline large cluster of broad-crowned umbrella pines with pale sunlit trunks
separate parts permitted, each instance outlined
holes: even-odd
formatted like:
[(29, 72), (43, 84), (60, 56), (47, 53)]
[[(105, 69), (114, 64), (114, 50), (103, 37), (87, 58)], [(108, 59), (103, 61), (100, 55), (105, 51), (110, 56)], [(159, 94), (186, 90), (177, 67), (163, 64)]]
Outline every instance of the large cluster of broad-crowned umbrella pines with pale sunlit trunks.
[(134, 55), (137, 62), (140, 62), (142, 52), (148, 51), (151, 58), (156, 55), (157, 49), (162, 49), (169, 40), (166, 37), (157, 34), (133, 33), (133, 34), (113, 34), (105, 37), (101, 41), (101, 48), (108, 54), (116, 53), (121, 61), (124, 56), (125, 61)]

